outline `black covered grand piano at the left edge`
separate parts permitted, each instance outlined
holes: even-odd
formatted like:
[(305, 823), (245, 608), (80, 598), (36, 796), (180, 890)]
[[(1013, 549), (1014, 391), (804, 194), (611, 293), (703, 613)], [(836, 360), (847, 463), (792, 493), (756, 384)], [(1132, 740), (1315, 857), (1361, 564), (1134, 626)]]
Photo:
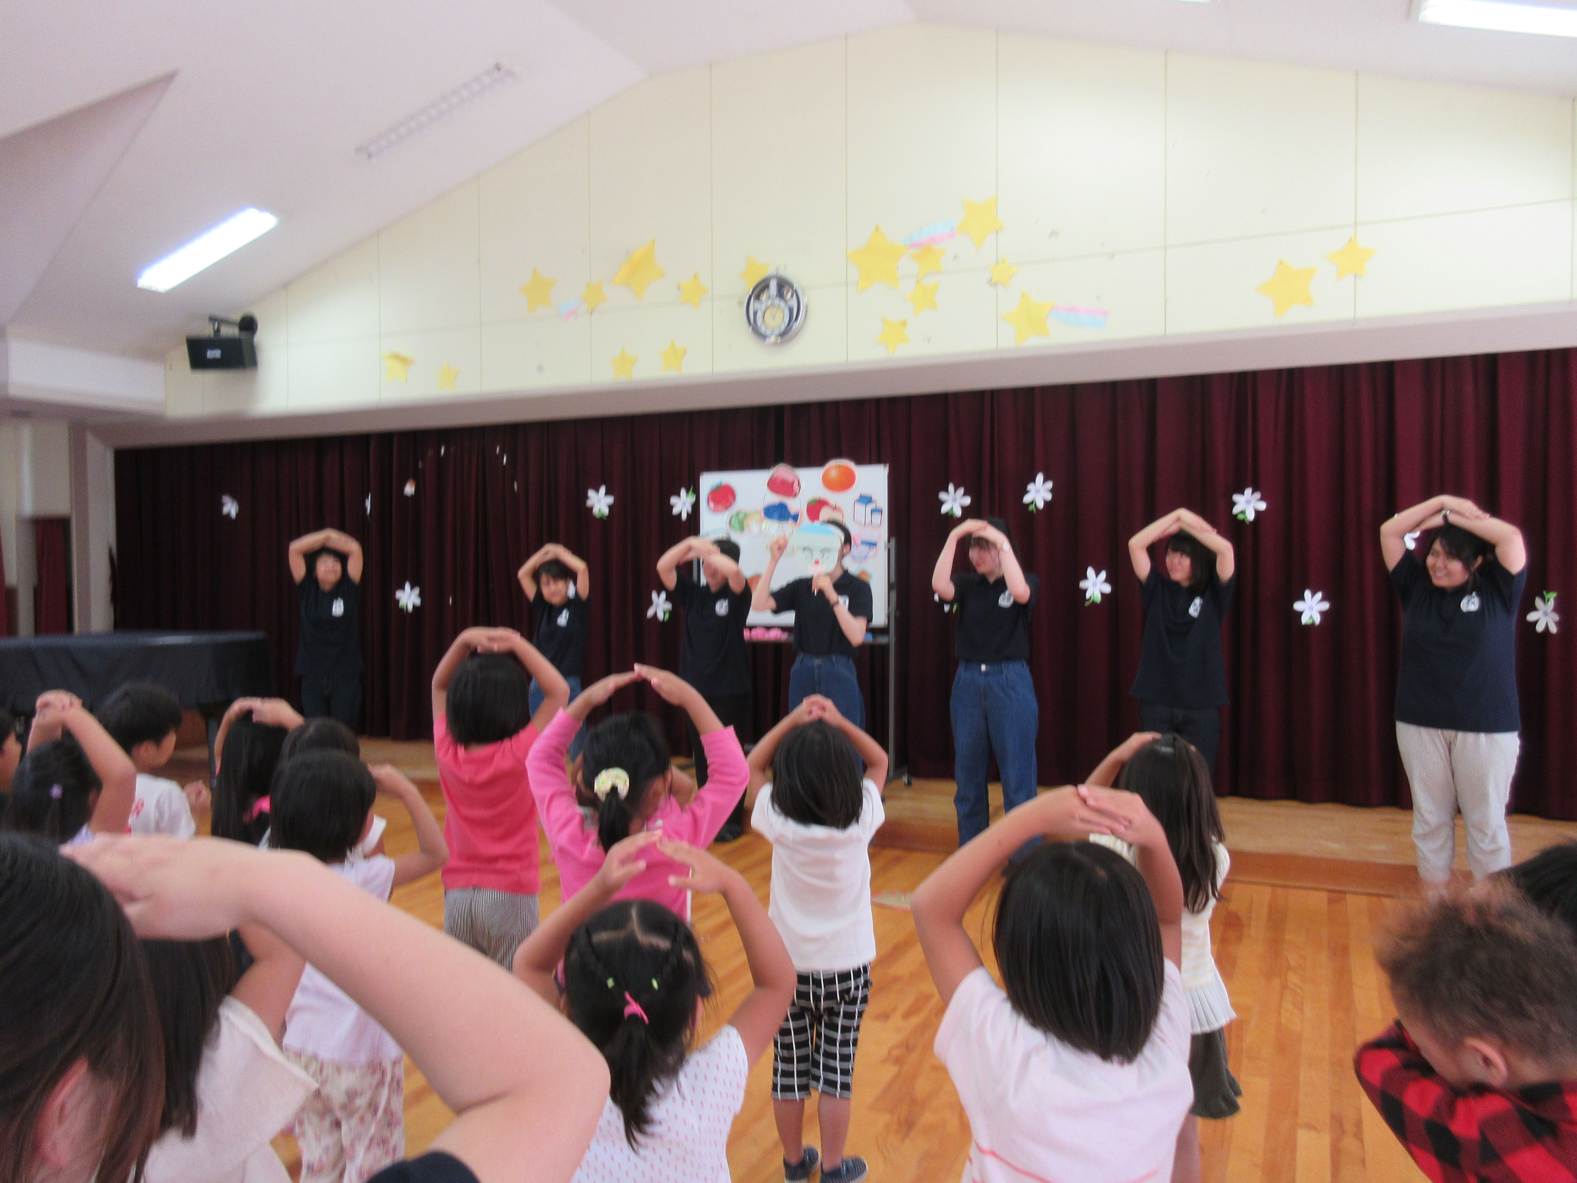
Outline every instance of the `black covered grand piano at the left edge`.
[(181, 707), (219, 718), (235, 699), (268, 696), (274, 677), (267, 633), (82, 633), (0, 637), (0, 707), (33, 713), (38, 696), (66, 689), (88, 710), (126, 681), (155, 681)]

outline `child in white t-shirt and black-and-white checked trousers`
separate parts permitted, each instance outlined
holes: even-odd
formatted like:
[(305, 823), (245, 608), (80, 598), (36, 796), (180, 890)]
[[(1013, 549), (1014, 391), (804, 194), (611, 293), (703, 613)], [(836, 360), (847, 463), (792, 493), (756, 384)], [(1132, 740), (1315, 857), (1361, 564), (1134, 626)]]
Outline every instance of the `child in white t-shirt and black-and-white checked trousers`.
[[(788, 946), (795, 998), (773, 1039), (773, 1118), (784, 1178), (825, 1183), (866, 1177), (844, 1156), (859, 1021), (877, 956), (871, 915), (871, 838), (882, 827), (888, 756), (863, 729), (812, 694), (749, 759), (751, 828), (773, 844), (768, 915)], [(863, 770), (861, 770), (863, 765)], [(817, 1093), (822, 1150), (804, 1145), (804, 1103)]]

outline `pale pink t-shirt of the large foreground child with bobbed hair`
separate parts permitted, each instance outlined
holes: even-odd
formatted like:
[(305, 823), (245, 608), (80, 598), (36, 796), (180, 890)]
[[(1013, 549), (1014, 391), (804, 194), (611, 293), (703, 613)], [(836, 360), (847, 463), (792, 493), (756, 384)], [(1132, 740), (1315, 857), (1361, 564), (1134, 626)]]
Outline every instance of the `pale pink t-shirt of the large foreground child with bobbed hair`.
[(959, 983), (935, 1047), (970, 1118), (964, 1183), (1172, 1178), (1194, 1082), (1187, 997), (1170, 961), (1154, 1030), (1132, 1063), (1031, 1027), (984, 965)]

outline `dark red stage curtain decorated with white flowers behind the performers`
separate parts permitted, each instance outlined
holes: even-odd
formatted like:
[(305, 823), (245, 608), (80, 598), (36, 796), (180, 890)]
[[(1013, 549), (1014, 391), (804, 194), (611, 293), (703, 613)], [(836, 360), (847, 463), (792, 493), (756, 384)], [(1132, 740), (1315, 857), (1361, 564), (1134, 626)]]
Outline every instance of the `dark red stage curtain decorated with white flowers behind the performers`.
[[(951, 776), (953, 626), (930, 568), (953, 525), (949, 481), (971, 514), (1008, 519), (1041, 577), (1033, 669), (1041, 782), (1082, 778), (1137, 721), (1128, 688), (1140, 604), (1126, 541), (1187, 505), (1238, 549), (1227, 618), (1233, 705), (1219, 787), (1262, 798), (1408, 806), (1391, 702), (1399, 612), (1380, 562), (1380, 522), (1435, 492), (1471, 497), (1520, 525), (1533, 595), (1577, 603), (1574, 355), (1512, 353), (1039, 390), (971, 391), (692, 415), (609, 418), (337, 440), (164, 448), (117, 454), (120, 620), (126, 628), (265, 628), (281, 686), (296, 689), (295, 596), (285, 543), (323, 524), (367, 547), (367, 703), (375, 733), (427, 727), (427, 678), (459, 628), (514, 620), (514, 571), (547, 539), (591, 563), (587, 672), (678, 659), (677, 618), (647, 618), (653, 565), (694, 528), (669, 495), (703, 468), (834, 456), (891, 465), (899, 546), (899, 751), (916, 774)], [(508, 456), (508, 462), (505, 457)], [(1036, 473), (1055, 483), (1023, 505)], [(415, 497), (404, 497), (407, 480)], [(585, 509), (607, 484), (609, 521)], [(1232, 519), (1232, 494), (1269, 508)], [(372, 513), (363, 498), (372, 492)], [(222, 517), (219, 498), (240, 513)], [(1085, 568), (1115, 592), (1085, 607)], [(423, 607), (394, 607), (405, 580)], [(1304, 588), (1331, 603), (1303, 626)], [(1571, 621), (1577, 628), (1577, 618)], [(1523, 754), (1514, 808), (1577, 817), (1561, 774), (1577, 757), (1571, 629), (1519, 620)], [(785, 661), (754, 647), (757, 721), (781, 703)], [(883, 655), (863, 662), (871, 730), (885, 735)], [(677, 727), (677, 722), (673, 724)]]

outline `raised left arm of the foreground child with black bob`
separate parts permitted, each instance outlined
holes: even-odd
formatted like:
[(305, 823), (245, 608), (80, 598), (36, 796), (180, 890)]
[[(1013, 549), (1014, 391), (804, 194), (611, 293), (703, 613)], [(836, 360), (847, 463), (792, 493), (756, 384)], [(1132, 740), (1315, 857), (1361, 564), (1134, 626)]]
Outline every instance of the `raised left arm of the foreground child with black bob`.
[(915, 932), (943, 1005), (953, 1000), (959, 983), (981, 967), (981, 954), (964, 927), (964, 913), (997, 869), (1031, 838), (1093, 833), (1110, 833), (1110, 820), (1090, 808), (1076, 789), (1041, 793), (987, 827), (915, 890), (910, 899)]

